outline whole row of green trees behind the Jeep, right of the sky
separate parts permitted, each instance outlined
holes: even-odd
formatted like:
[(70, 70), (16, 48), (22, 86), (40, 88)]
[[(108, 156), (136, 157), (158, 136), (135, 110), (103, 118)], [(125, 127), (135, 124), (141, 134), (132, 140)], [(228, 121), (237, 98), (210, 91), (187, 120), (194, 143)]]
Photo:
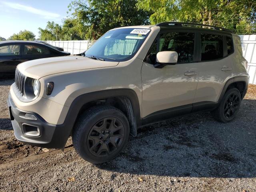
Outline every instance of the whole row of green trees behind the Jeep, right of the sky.
[[(238, 34), (256, 33), (256, 0), (73, 0), (62, 25), (38, 28), (41, 40), (96, 40), (118, 26), (165, 21), (220, 26)], [(12, 37), (18, 39), (18, 34)]]

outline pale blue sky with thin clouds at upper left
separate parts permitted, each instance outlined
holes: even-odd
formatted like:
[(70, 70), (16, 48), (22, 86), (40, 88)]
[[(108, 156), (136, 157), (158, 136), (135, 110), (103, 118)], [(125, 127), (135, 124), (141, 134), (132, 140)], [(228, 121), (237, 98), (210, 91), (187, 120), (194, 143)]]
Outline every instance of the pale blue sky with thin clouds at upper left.
[(62, 24), (68, 15), (71, 0), (0, 0), (0, 36), (9, 38), (20, 30), (32, 31), (38, 38), (38, 28), (48, 21)]

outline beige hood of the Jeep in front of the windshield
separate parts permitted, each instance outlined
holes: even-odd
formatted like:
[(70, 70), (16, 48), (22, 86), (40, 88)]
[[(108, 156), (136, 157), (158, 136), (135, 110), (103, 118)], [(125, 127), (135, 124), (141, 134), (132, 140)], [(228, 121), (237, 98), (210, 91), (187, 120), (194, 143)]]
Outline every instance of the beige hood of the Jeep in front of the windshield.
[(117, 65), (118, 62), (100, 61), (82, 56), (62, 56), (27, 61), (19, 64), (17, 68), (25, 76), (39, 79), (56, 73)]

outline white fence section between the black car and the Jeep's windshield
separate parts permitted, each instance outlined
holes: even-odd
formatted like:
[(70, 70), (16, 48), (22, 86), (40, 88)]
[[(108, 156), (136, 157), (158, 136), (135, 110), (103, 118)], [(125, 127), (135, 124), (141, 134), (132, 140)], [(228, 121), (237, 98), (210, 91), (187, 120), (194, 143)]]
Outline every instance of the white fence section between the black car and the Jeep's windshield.
[(70, 52), (71, 54), (79, 54), (87, 50), (91, 43), (89, 40), (74, 40), (74, 41), (46, 41), (47, 43), (61, 47), (64, 51)]

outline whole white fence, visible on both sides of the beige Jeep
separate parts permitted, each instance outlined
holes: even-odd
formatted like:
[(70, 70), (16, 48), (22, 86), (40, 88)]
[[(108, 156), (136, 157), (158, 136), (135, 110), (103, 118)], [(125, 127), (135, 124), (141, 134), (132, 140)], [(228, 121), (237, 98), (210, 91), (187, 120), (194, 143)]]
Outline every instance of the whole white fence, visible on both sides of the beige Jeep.
[[(256, 84), (256, 35), (240, 35), (244, 58), (248, 61), (250, 83)], [(89, 40), (47, 41), (49, 44), (62, 47), (71, 54), (79, 54), (87, 50), (92, 44)]]

